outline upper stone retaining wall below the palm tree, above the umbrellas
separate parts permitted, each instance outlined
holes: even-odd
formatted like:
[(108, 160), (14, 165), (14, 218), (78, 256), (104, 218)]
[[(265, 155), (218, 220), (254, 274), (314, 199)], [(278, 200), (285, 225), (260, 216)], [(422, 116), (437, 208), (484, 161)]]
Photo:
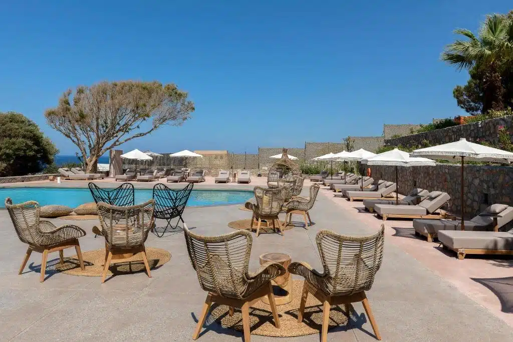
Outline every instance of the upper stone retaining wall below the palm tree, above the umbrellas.
[(460, 138), (466, 138), (472, 142), (476, 142), (480, 139), (491, 144), (496, 144), (499, 140), (499, 126), (509, 128), (509, 134), (513, 137), (513, 115), (508, 115), (477, 123), (452, 126), (393, 139), (385, 138), (385, 144), (392, 146), (419, 146), (426, 140), (431, 146), (435, 146), (455, 142)]

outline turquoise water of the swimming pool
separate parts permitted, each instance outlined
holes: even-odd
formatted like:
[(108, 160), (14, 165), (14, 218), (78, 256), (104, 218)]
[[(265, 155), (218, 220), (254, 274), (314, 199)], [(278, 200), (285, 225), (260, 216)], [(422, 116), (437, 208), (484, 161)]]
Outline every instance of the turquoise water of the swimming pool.
[[(146, 202), (152, 197), (152, 194), (151, 189), (135, 189), (135, 204)], [(251, 191), (192, 190), (187, 206), (243, 204), (252, 196), (253, 192)], [(6, 197), (11, 197), (13, 203), (35, 200), (41, 206), (61, 204), (71, 208), (93, 202), (89, 189), (78, 188), (3, 188), (0, 189), (1, 208), (5, 207)]]

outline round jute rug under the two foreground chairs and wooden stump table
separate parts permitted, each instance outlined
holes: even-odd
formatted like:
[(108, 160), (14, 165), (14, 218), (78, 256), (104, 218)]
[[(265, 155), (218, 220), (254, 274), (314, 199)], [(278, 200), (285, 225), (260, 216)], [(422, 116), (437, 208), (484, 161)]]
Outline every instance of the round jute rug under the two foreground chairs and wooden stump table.
[[(301, 292), (303, 291), (303, 280), (292, 281), (293, 299), (289, 304), (278, 305), (278, 316), (280, 317), (280, 329), (274, 326), (271, 308), (261, 300), (249, 309), (251, 334), (273, 337), (294, 337), (310, 334), (319, 334), (322, 328), (323, 306), (317, 298), (308, 295), (306, 300), (303, 322), (298, 323), (298, 312), (301, 304)], [(352, 306), (349, 305), (347, 314), (344, 305), (331, 307), (329, 313), (329, 328), (348, 324), (349, 317), (356, 319)], [(225, 305), (212, 305), (209, 316), (210, 322), (216, 321), (223, 328), (243, 331), (241, 310), (235, 309), (233, 316), (228, 315), (228, 307)]]

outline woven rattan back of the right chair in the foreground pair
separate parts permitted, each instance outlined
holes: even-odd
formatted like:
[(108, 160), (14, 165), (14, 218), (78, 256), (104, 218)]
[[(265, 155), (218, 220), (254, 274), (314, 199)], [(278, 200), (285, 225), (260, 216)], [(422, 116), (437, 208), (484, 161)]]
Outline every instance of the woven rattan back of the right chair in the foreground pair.
[(370, 290), (383, 260), (384, 226), (359, 237), (322, 230), (315, 240), (327, 272), (323, 292), (336, 296)]

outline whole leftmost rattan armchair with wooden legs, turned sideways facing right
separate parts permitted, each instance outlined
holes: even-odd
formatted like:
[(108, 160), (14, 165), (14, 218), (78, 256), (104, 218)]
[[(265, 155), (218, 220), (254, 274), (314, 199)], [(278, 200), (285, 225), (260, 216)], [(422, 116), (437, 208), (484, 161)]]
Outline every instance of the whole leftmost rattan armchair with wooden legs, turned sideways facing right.
[(51, 222), (40, 220), (41, 207), (37, 202), (29, 201), (21, 204), (12, 204), (12, 199), (5, 199), (5, 207), (11, 216), (12, 224), (18, 238), (29, 245), (18, 274), (22, 274), (32, 251), (43, 254), (41, 261), (40, 281), (45, 280), (46, 260), (48, 253), (59, 252), (61, 264), (64, 264), (64, 250), (74, 247), (80, 268), (84, 270), (84, 260), (78, 238), (85, 236), (86, 232), (74, 225), (55, 227)]

